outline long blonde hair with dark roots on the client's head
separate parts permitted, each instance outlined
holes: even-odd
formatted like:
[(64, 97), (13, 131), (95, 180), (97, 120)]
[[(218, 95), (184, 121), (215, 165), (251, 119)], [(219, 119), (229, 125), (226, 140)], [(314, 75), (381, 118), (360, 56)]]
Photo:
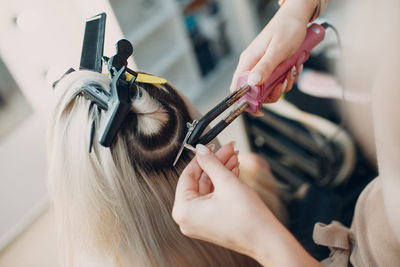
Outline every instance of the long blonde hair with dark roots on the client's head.
[(175, 186), (190, 154), (183, 153), (176, 167), (172, 161), (192, 119), (174, 89), (139, 84), (111, 148), (94, 141), (88, 153), (91, 122), (102, 112), (79, 94), (85, 86), (109, 90), (110, 80), (89, 71), (61, 80), (48, 133), (49, 191), (62, 262), (258, 266), (244, 255), (185, 237), (171, 218)]

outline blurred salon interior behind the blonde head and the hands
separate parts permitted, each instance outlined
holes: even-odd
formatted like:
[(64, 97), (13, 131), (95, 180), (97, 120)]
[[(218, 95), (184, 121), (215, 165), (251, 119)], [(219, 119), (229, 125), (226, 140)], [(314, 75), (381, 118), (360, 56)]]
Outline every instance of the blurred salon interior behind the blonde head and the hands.
[[(130, 66), (164, 77), (205, 113), (229, 95), (243, 51), (279, 8), (275, 0), (0, 0), (0, 267), (58, 266), (49, 199), (46, 125), (52, 83), (79, 64), (87, 18), (107, 14), (104, 55), (126, 38)], [(293, 89), (264, 116), (243, 114), (220, 135), (269, 163), (289, 192), (286, 226), (317, 259), (312, 225), (349, 226), (362, 189), (377, 175), (369, 99), (341, 83), (345, 0), (328, 21)], [(362, 120), (343, 114), (358, 112)], [(360, 116), (361, 116), (360, 115)], [(357, 125), (360, 124), (360, 125)], [(362, 126), (362, 127), (357, 127)], [(303, 191), (306, 190), (307, 193)]]

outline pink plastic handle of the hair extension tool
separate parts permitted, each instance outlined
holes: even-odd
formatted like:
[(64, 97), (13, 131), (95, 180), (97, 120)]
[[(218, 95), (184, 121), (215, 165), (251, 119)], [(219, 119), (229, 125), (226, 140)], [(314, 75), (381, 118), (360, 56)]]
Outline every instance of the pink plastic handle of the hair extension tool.
[[(268, 80), (258, 86), (250, 86), (250, 90), (244, 95), (241, 100), (246, 100), (248, 107), (247, 112), (256, 113), (261, 109), (261, 105), (264, 99), (268, 97), (271, 91), (279, 84), (284, 81), (289, 70), (292, 66), (300, 66), (310, 57), (311, 49), (313, 49), (317, 44), (319, 44), (325, 37), (325, 29), (319, 24), (312, 24), (307, 28), (306, 37), (304, 42), (301, 44), (299, 50), (290, 58), (282, 62), (276, 67), (272, 72)], [(237, 88), (247, 84), (247, 77), (249, 71), (244, 72), (239, 76), (237, 81)]]

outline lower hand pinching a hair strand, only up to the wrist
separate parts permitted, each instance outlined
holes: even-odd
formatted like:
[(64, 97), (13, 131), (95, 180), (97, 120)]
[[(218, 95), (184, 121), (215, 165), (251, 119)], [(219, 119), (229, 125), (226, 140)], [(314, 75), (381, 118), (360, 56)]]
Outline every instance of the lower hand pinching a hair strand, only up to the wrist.
[[(254, 247), (260, 245), (257, 236), (266, 223), (277, 220), (258, 195), (238, 179), (236, 167), (224, 165), (205, 146), (196, 148), (197, 156), (181, 174), (176, 188), (174, 220), (187, 236), (256, 257)], [(229, 146), (216, 154), (221, 152), (225, 159), (234, 155)], [(199, 180), (205, 174), (212, 183), (208, 191), (200, 189)]]

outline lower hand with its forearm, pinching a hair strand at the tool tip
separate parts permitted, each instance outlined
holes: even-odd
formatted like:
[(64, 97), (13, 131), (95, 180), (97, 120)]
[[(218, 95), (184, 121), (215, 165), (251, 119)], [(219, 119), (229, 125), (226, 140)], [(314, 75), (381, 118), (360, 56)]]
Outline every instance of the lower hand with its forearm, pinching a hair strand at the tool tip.
[[(217, 152), (219, 158), (205, 146), (196, 148), (196, 157), (179, 178), (172, 210), (184, 235), (246, 254), (268, 266), (320, 266), (255, 191), (238, 179), (231, 145)], [(220, 158), (228, 159), (225, 165)], [(199, 180), (204, 173), (212, 186), (201, 189)]]

